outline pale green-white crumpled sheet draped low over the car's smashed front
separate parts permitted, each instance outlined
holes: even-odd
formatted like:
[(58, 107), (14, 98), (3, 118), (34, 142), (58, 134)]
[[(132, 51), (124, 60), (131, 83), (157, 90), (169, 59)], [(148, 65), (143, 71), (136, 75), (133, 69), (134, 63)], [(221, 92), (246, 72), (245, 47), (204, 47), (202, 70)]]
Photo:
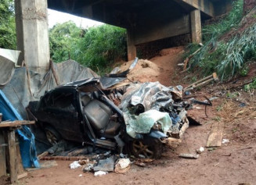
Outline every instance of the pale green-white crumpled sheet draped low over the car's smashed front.
[(124, 121), (129, 136), (137, 138), (137, 133), (150, 133), (154, 123), (161, 124), (163, 132), (166, 134), (172, 125), (171, 118), (167, 112), (149, 110), (141, 113), (139, 116), (124, 112)]

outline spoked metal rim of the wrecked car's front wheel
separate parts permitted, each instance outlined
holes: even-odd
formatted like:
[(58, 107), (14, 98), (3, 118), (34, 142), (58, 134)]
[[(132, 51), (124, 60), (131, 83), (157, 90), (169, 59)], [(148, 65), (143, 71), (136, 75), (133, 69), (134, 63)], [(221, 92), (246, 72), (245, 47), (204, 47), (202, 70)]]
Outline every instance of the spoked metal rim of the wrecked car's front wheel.
[(142, 141), (134, 141), (132, 144), (135, 155), (144, 155), (146, 158), (153, 158), (153, 150), (150, 146), (143, 144)]

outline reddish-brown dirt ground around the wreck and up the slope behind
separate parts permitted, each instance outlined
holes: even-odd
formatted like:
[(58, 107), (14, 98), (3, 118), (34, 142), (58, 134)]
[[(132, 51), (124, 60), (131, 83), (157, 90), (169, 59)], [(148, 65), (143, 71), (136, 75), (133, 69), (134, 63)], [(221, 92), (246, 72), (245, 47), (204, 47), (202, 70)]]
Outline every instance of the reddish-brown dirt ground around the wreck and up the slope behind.
[[(154, 77), (130, 78), (159, 80), (166, 86), (181, 83), (178, 73), (181, 69), (177, 63), (181, 62), (182, 51), (181, 47), (170, 48), (150, 59), (153, 66), (160, 70), (157, 77), (153, 74)], [(255, 69), (256, 65), (253, 65), (251, 71)], [(256, 75), (251, 71), (248, 78)], [(238, 80), (237, 83), (240, 82)], [(204, 105), (195, 105), (188, 114), (199, 120), (201, 125), (189, 126), (178, 148), (164, 148), (162, 157), (147, 163), (145, 167), (132, 164), (124, 174), (93, 176), (93, 173), (83, 173), (81, 168), (70, 169), (72, 161), (57, 161), (56, 167), (29, 172), (19, 184), (256, 184), (256, 94), (228, 86), (211, 84), (193, 92), (193, 95), (207, 95), (208, 98), (218, 95), (222, 98), (212, 101), (213, 106), (207, 107), (207, 116)], [(246, 106), (241, 107), (239, 101), (245, 102)], [(219, 148), (205, 148), (214, 123), (224, 123), (222, 138), (229, 139), (229, 143)], [(179, 154), (195, 153), (200, 147), (204, 147), (205, 151), (199, 158), (178, 158)]]

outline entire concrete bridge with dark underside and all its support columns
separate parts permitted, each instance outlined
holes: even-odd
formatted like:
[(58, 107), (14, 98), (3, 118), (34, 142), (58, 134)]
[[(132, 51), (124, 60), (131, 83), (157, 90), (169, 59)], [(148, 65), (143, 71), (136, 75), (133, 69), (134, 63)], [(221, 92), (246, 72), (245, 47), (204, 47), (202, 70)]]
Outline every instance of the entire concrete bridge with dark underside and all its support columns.
[(47, 8), (126, 28), (130, 60), (137, 44), (178, 35), (200, 42), (201, 21), (228, 12), (231, 4), (232, 0), (15, 0), (20, 61), (48, 67)]

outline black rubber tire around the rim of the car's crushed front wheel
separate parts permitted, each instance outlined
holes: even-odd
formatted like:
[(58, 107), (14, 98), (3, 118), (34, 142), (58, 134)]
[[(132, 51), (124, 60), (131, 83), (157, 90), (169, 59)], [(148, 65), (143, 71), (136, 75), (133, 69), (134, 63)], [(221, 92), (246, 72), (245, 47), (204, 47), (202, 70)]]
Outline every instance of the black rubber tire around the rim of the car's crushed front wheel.
[(139, 156), (139, 154), (135, 151), (134, 149), (134, 144), (138, 143), (138, 142), (142, 142), (142, 144), (147, 145), (148, 148), (150, 149), (150, 151), (153, 151), (153, 155), (151, 155), (150, 157), (145, 157), (146, 158), (160, 158), (160, 156), (163, 153), (163, 144), (157, 139), (157, 138), (153, 138), (153, 137), (148, 137), (144, 140), (135, 140), (130, 142), (129, 144), (129, 153), (131, 155), (134, 155), (135, 158), (141, 158)]

